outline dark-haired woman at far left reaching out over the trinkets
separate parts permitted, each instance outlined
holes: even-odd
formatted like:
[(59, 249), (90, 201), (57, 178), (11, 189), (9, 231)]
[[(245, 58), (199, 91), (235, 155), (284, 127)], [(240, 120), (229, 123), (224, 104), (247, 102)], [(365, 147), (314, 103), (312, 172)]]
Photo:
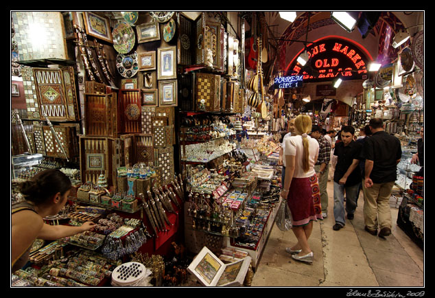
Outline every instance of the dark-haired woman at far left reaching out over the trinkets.
[(23, 200), (12, 205), (11, 261), (12, 272), (26, 263), (34, 240), (57, 240), (88, 231), (95, 225), (84, 222), (81, 227), (51, 226), (43, 218), (56, 215), (67, 202), (71, 181), (59, 170), (44, 170), (21, 185)]

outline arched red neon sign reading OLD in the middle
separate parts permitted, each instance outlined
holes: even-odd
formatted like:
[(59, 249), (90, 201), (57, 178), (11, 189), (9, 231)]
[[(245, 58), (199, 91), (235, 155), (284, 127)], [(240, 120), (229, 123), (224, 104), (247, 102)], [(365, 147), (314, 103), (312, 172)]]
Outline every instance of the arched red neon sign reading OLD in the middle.
[(364, 49), (350, 40), (324, 38), (307, 46), (309, 60), (303, 67), (296, 57), (287, 67), (292, 76), (303, 76), (305, 82), (322, 82), (341, 76), (343, 80), (366, 80), (367, 65), (373, 60)]

